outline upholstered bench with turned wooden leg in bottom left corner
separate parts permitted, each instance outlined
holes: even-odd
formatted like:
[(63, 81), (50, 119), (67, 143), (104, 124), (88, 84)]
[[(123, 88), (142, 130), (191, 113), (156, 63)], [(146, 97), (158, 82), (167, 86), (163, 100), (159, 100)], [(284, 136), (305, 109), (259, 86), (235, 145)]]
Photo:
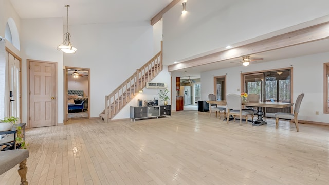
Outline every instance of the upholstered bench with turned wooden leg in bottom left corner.
[[(20, 164), (19, 175), (21, 176), (21, 185), (27, 185), (26, 181), (26, 159), (29, 157), (29, 151), (26, 149), (0, 151), (0, 175)], [(1, 183), (1, 182), (0, 182)]]

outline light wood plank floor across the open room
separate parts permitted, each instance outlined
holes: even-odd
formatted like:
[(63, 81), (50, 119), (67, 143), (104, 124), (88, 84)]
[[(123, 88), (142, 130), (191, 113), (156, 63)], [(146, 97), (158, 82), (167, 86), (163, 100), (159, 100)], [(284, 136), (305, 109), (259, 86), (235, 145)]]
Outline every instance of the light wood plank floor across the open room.
[[(207, 112), (26, 130), (29, 184), (329, 184), (329, 126), (228, 124)], [(0, 167), (1, 168), (1, 167)], [(17, 168), (0, 184), (19, 184)]]

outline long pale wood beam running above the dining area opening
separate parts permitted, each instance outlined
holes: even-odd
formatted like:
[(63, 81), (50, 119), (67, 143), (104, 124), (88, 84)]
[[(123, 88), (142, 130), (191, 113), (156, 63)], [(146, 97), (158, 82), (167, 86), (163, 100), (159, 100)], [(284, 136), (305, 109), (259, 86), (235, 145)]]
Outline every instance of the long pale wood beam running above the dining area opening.
[(245, 55), (261, 53), (327, 38), (329, 38), (329, 22), (284, 33), (278, 36), (273, 36), (272, 38), (246, 44), (240, 47), (215, 52), (202, 57), (197, 57), (184, 62), (180, 62), (178, 64), (169, 65), (168, 71), (196, 67), (228, 59), (243, 57)]

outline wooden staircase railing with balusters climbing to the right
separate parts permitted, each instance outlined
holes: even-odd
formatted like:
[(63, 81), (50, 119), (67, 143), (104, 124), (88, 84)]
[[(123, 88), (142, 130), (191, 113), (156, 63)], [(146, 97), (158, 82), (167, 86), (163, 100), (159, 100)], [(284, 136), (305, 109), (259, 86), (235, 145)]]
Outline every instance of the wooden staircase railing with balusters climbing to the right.
[(105, 96), (105, 110), (99, 115), (105, 122), (109, 122), (120, 110), (137, 95), (162, 71), (162, 49), (149, 62), (124, 81), (112, 93)]

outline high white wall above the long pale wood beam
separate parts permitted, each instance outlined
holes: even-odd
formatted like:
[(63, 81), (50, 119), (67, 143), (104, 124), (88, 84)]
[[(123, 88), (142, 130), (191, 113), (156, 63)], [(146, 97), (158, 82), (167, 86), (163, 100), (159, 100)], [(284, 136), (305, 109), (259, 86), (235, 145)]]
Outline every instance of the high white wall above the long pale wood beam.
[[(227, 4), (230, 6), (227, 6)], [(168, 64), (328, 15), (327, 0), (188, 1), (163, 15)]]

